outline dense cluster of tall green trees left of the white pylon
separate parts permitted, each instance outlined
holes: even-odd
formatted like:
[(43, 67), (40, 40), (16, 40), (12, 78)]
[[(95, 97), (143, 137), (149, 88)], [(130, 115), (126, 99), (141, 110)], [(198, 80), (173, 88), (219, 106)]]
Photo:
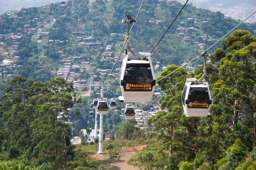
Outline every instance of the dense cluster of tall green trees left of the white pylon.
[(67, 159), (73, 158), (67, 123), (74, 105), (72, 84), (63, 78), (42, 83), (17, 76), (5, 90), (0, 103), (1, 150), (9, 159), (27, 164), (66, 167)]

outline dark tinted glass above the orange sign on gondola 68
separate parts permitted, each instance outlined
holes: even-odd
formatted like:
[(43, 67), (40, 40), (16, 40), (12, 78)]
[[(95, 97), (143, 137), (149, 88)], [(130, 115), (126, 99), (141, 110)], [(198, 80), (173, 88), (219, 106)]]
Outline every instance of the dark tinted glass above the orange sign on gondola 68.
[(153, 80), (149, 64), (127, 64), (124, 80), (127, 83), (136, 83), (138, 85), (150, 84)]

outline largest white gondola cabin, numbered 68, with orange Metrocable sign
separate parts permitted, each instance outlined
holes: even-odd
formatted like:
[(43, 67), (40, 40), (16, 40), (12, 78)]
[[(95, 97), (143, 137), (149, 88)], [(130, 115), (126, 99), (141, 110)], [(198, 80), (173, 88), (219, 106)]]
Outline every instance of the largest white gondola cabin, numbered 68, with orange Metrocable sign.
[(150, 102), (156, 78), (150, 53), (139, 52), (146, 60), (123, 59), (119, 79), (124, 102)]

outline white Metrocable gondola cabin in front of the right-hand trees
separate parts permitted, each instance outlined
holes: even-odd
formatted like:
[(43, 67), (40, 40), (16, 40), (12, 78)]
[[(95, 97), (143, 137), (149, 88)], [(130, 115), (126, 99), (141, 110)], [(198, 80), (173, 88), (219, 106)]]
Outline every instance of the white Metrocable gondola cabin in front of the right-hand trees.
[(210, 115), (212, 97), (208, 82), (197, 82), (196, 78), (187, 78), (181, 98), (184, 114), (187, 117)]

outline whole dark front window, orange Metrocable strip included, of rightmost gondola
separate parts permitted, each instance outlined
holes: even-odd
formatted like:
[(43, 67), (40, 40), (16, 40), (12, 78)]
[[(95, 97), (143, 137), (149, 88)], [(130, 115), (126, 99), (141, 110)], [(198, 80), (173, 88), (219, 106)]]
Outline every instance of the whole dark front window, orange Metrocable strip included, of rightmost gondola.
[[(183, 94), (182, 94), (183, 99)], [(208, 88), (190, 87), (188, 93), (188, 108), (207, 108), (209, 107)], [(183, 100), (182, 100), (183, 102)]]

